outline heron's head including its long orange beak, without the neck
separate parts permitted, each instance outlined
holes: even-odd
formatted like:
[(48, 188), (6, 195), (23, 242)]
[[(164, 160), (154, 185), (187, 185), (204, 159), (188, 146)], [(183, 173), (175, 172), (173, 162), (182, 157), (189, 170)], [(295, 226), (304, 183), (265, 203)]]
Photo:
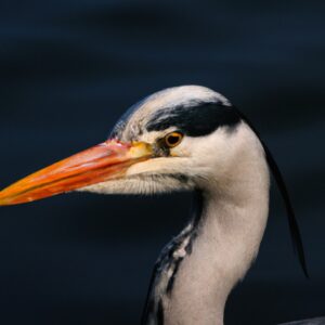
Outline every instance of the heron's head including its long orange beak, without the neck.
[(148, 194), (208, 186), (230, 174), (249, 136), (259, 143), (244, 125), (230, 102), (208, 88), (169, 88), (133, 105), (104, 143), (4, 188), (0, 205), (70, 191)]

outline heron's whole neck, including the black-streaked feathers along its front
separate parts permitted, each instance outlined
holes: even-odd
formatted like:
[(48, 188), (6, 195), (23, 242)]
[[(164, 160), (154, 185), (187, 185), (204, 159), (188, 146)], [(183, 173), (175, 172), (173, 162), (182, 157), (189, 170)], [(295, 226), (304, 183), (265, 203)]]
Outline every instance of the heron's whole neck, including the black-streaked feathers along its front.
[(240, 161), (223, 186), (196, 194), (199, 213), (155, 265), (143, 324), (223, 324), (227, 296), (258, 253), (269, 210), (264, 153), (246, 158), (253, 162)]

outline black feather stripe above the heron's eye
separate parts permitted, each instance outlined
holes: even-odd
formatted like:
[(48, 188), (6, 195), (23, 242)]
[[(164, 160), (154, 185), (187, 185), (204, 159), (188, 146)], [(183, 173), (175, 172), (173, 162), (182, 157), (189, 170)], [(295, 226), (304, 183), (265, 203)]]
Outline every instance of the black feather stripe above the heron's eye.
[(146, 123), (147, 131), (162, 131), (170, 127), (190, 136), (207, 135), (219, 127), (235, 127), (240, 121), (237, 112), (219, 103), (193, 107), (176, 106), (160, 109)]

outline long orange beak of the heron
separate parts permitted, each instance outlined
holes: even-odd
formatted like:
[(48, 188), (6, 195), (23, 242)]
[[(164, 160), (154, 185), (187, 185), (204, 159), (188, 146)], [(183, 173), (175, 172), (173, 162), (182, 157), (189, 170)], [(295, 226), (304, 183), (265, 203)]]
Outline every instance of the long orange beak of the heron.
[(0, 206), (16, 205), (122, 178), (128, 168), (152, 156), (143, 142), (106, 141), (41, 169), (0, 192)]

